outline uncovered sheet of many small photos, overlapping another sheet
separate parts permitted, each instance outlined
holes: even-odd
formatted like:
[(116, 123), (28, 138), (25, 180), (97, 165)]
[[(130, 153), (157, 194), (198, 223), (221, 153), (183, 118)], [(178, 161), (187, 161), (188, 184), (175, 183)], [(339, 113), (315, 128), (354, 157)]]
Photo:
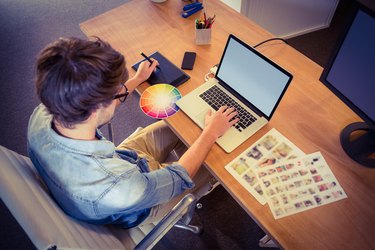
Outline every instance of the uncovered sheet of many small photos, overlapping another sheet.
[(320, 152), (256, 170), (275, 219), (346, 198)]

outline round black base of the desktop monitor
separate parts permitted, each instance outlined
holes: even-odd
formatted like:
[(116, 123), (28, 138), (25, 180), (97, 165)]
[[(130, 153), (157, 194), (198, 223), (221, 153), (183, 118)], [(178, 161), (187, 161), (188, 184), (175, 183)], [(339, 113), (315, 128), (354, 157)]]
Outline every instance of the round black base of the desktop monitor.
[[(362, 134), (356, 138), (353, 132)], [(353, 138), (353, 139), (351, 139)], [(341, 146), (344, 151), (359, 164), (375, 168), (375, 130), (364, 122), (355, 122), (346, 126), (340, 135)]]

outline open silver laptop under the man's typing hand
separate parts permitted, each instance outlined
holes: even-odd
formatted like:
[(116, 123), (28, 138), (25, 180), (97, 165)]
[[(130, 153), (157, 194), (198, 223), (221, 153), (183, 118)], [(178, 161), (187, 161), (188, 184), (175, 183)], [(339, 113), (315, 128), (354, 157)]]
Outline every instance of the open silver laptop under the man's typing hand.
[(240, 122), (216, 141), (230, 153), (268, 123), (292, 78), (276, 63), (230, 34), (215, 78), (176, 104), (201, 128), (209, 109), (234, 107)]

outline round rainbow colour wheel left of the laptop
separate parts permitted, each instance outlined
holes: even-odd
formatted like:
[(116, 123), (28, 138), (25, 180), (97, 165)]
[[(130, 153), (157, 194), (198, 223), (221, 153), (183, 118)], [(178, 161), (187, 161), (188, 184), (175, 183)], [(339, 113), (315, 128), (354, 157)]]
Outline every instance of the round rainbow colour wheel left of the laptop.
[(156, 84), (142, 93), (139, 105), (146, 115), (163, 119), (178, 111), (176, 101), (180, 98), (180, 91), (172, 85)]

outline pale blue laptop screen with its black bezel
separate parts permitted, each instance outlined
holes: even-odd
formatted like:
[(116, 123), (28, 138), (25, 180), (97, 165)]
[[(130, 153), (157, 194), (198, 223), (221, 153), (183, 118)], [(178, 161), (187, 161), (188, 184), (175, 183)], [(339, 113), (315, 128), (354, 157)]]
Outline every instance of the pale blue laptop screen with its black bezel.
[(237, 92), (227, 88), (236, 97), (247, 100), (270, 119), (292, 75), (230, 35), (216, 78), (224, 83), (224, 87), (227, 85)]

